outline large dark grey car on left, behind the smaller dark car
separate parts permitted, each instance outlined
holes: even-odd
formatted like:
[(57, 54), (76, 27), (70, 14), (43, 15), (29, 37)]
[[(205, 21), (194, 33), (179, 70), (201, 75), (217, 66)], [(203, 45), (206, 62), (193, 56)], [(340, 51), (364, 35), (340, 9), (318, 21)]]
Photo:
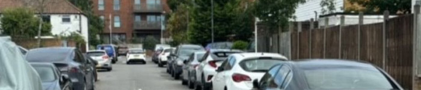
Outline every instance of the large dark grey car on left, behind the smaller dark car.
[(28, 51), (28, 62), (53, 63), (62, 74), (72, 79), (75, 90), (93, 90), (95, 77), (91, 61), (86, 60), (77, 48), (51, 47)]

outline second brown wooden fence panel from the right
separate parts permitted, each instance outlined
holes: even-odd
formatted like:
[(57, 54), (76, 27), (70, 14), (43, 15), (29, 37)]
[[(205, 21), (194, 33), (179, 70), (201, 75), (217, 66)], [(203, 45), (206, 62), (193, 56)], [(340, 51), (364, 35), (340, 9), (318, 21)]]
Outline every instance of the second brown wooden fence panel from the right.
[(383, 23), (361, 26), (360, 59), (383, 66)]

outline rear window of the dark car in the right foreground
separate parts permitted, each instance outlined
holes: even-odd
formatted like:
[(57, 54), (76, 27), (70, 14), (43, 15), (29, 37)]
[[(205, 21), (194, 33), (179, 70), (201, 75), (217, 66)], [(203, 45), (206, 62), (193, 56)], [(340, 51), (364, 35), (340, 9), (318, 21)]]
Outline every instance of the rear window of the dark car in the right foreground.
[(391, 90), (391, 83), (377, 69), (365, 68), (311, 68), (304, 69), (310, 89), (365, 89)]

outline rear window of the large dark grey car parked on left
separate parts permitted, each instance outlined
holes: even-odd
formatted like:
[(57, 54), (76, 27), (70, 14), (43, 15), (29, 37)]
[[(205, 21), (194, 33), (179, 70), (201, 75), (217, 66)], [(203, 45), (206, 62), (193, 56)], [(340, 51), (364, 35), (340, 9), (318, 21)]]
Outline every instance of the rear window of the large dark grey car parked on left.
[(69, 54), (68, 50), (30, 50), (26, 59), (29, 62), (56, 62), (64, 61)]

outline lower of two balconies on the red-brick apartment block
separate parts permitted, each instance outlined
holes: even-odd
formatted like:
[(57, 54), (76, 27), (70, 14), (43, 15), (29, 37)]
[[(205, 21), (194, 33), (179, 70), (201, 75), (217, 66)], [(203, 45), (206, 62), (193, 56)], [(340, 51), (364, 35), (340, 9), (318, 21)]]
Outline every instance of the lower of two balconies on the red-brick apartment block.
[(161, 29), (161, 23), (157, 22), (148, 22), (148, 21), (140, 21), (133, 23), (133, 29)]

